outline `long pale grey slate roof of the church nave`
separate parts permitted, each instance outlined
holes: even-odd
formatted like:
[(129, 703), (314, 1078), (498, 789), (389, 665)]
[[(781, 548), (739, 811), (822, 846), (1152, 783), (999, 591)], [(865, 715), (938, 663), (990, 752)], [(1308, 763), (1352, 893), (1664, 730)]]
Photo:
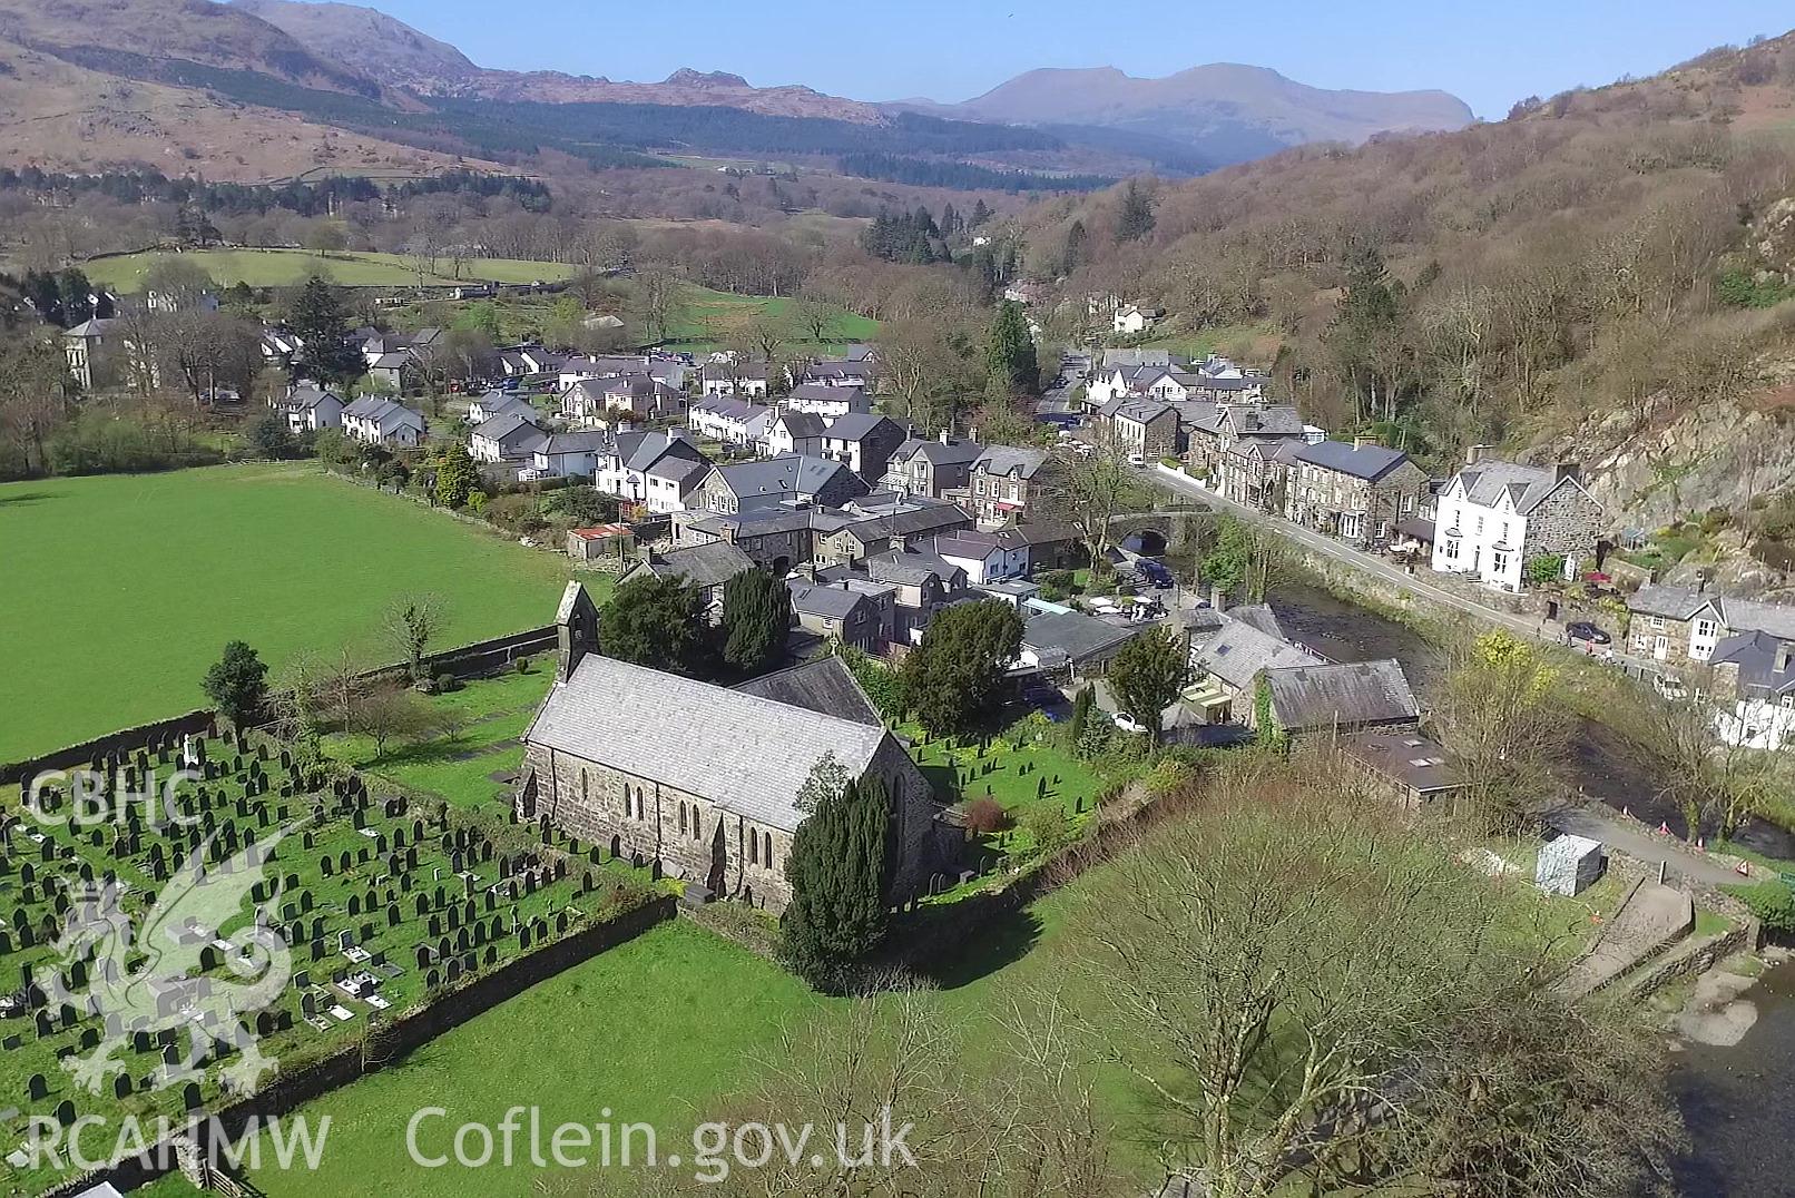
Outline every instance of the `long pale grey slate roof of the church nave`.
[(797, 832), (799, 788), (824, 753), (863, 776), (885, 729), (587, 654), (524, 742), (601, 762)]

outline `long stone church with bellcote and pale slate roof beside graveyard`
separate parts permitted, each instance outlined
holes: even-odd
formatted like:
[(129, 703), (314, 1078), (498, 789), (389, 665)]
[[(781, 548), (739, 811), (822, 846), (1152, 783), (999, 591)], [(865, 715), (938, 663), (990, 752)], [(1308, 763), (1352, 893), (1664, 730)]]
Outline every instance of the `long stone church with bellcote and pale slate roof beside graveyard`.
[(713, 896), (777, 912), (792, 898), (784, 864), (804, 821), (797, 792), (833, 753), (849, 776), (883, 783), (890, 799), (890, 902), (928, 889), (951, 837), (915, 762), (876, 718), (865, 720), (863, 695), (860, 711), (826, 713), (770, 695), (827, 688), (749, 693), (605, 657), (598, 609), (578, 582), (567, 584), (556, 623), (555, 686), (524, 733), (522, 817), (546, 815), (617, 857), (657, 862)]

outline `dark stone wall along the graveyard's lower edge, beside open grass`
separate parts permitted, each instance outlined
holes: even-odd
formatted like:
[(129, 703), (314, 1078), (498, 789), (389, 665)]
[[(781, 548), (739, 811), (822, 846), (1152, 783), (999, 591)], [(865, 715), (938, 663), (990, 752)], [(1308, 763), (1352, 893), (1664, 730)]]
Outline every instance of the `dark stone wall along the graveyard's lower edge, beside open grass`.
[[(501, 1002), (515, 999), (537, 982), (628, 943), (675, 916), (677, 900), (673, 896), (661, 896), (605, 923), (569, 932), (546, 948), (519, 957), (492, 973), (481, 973), (456, 988), (443, 990), (427, 1006), (382, 1024), (381, 1027), (386, 1035), (382, 1051), (391, 1053), (395, 1058), (404, 1056), (445, 1031), (452, 1031)], [(153, 1144), (144, 1153), (151, 1158), (147, 1164), (133, 1157), (106, 1169), (93, 1169), (47, 1189), (43, 1198), (68, 1198), (101, 1182), (111, 1182), (122, 1191), (136, 1189), (165, 1173), (158, 1166), (163, 1160), (174, 1160), (172, 1141), (178, 1135), (205, 1137), (217, 1128), (230, 1137), (237, 1137), (251, 1119), (267, 1121), (275, 1115), (284, 1115), (330, 1090), (355, 1081), (364, 1072), (373, 1070), (363, 1065), (361, 1044), (339, 1047), (291, 1074), (276, 1076), (271, 1085), (230, 1106), (223, 1106), (210, 1115), (196, 1115), (187, 1128), (176, 1132), (167, 1141)], [(208, 1119), (215, 1119), (215, 1123), (208, 1123)]]

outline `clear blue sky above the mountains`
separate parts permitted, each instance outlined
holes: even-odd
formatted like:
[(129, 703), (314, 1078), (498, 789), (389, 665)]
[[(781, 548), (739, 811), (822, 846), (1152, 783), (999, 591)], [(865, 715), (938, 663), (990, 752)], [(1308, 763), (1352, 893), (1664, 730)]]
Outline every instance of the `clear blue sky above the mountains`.
[(373, 0), (481, 66), (964, 101), (1032, 66), (1273, 66), (1325, 88), (1443, 88), (1481, 117), (1795, 25), (1788, 0)]

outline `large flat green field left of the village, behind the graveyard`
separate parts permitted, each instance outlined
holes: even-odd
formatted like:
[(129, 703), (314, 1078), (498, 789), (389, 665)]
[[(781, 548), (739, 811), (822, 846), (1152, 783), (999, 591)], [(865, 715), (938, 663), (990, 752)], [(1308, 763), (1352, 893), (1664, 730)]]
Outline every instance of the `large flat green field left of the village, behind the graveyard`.
[[(316, 467), (241, 465), (0, 487), (0, 760), (205, 704), (226, 641), (397, 654), (381, 612), (442, 596), (442, 647), (553, 620), (564, 559)], [(497, 767), (494, 767), (497, 769)]]

